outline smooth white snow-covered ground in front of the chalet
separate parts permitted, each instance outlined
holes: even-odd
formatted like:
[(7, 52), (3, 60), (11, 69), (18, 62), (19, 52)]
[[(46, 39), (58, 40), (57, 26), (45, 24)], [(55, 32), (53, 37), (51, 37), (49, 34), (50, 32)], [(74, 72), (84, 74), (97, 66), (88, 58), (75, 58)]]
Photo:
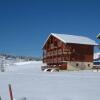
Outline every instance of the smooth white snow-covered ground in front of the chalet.
[(15, 100), (100, 100), (100, 73), (42, 72), (42, 62), (9, 66), (0, 72), (0, 96), (10, 100), (8, 84)]

